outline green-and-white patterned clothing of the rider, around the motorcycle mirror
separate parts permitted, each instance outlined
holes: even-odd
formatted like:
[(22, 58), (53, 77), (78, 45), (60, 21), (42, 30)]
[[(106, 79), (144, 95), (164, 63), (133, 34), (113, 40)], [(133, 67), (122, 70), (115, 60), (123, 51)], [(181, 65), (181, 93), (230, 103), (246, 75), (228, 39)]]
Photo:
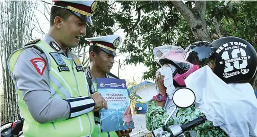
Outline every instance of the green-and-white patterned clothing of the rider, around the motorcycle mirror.
[[(169, 114), (167, 114), (164, 107), (156, 106), (155, 101), (152, 99), (147, 101), (146, 127), (148, 130), (152, 131), (164, 125), (164, 122), (168, 116)], [(194, 119), (199, 118), (200, 116), (203, 116), (203, 114), (200, 113), (199, 109), (196, 108), (195, 105), (189, 108), (178, 108), (176, 119), (174, 120), (171, 118), (168, 121), (167, 125), (170, 126), (170, 125), (173, 125), (174, 123), (183, 125)], [(190, 132), (185, 132), (184, 133), (185, 136), (186, 137), (228, 136), (222, 129), (220, 129), (219, 127), (213, 126), (213, 123), (211, 121), (205, 121), (203, 124), (200, 124), (194, 127), (192, 130), (195, 131), (196, 135), (193, 135), (193, 132), (190, 131)]]

